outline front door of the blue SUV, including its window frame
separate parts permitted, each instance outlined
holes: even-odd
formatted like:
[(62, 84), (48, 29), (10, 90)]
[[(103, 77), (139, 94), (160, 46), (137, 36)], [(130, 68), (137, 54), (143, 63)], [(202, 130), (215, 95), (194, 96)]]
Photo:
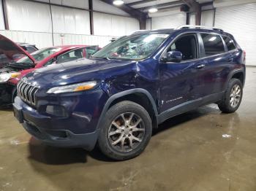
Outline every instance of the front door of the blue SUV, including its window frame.
[(182, 53), (182, 61), (179, 63), (160, 61), (159, 63), (159, 111), (165, 112), (175, 106), (189, 103), (200, 97), (197, 95), (197, 66), (203, 65), (198, 60), (197, 34), (184, 34), (179, 36), (164, 52), (164, 56), (170, 51)]

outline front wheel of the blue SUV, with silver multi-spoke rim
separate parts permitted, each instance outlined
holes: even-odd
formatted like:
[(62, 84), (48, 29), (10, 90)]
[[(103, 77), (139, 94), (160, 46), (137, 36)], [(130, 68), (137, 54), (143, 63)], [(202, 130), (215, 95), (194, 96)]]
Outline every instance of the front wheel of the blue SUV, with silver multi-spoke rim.
[(132, 101), (111, 106), (102, 124), (99, 149), (114, 160), (140, 155), (151, 139), (151, 118), (146, 109)]

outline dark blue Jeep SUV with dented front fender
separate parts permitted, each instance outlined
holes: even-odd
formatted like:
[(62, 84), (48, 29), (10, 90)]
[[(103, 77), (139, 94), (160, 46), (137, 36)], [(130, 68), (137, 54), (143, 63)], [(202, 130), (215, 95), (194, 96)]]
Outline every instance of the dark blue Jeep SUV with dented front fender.
[(89, 59), (48, 66), (18, 83), (15, 117), (56, 147), (99, 149), (116, 160), (140, 155), (153, 128), (215, 103), (241, 103), (245, 52), (217, 28), (137, 31)]

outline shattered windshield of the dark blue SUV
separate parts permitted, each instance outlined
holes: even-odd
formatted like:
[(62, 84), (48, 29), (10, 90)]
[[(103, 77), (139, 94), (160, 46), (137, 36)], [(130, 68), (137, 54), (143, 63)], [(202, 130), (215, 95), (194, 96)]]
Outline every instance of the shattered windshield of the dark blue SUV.
[(167, 39), (168, 34), (138, 34), (127, 36), (110, 43), (92, 58), (141, 60), (150, 56), (162, 42)]

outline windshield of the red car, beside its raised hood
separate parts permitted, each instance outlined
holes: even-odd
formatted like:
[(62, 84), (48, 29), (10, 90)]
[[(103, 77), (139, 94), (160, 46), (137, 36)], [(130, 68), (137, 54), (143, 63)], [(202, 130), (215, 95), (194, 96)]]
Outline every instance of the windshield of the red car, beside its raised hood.
[[(37, 50), (36, 52), (31, 53), (31, 56), (36, 60), (36, 61), (42, 61), (45, 58), (48, 58), (48, 56), (53, 55), (56, 52), (59, 52), (61, 48), (45, 48), (41, 50)], [(33, 63), (29, 57), (24, 56), (23, 58), (20, 58), (16, 63)]]

